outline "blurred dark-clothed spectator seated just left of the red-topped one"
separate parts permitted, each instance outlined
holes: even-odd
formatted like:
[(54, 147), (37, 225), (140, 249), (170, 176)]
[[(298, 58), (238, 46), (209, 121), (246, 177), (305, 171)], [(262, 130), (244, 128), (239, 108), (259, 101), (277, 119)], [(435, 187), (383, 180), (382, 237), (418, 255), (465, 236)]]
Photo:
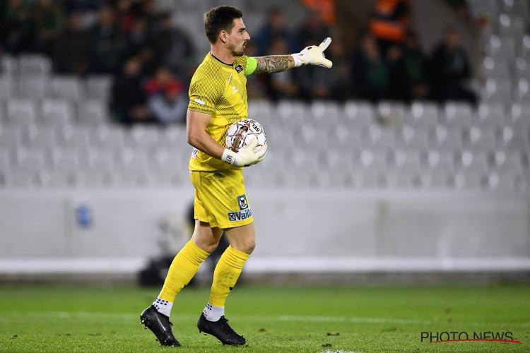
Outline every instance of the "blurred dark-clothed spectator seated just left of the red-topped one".
[(141, 88), (141, 60), (136, 56), (125, 61), (122, 73), (114, 79), (112, 113), (125, 124), (153, 121)]

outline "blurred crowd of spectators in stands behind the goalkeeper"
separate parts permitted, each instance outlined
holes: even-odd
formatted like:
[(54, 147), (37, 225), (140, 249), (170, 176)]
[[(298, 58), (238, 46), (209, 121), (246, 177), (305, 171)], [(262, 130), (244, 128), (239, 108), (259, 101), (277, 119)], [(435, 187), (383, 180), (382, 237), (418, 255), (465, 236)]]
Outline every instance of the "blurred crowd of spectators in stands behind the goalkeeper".
[[(186, 28), (156, 5), (155, 0), (4, 0), (0, 50), (46, 54), (60, 74), (111, 74), (110, 105), (117, 121), (184, 122), (187, 84), (206, 53), (197, 53)], [(261, 29), (250, 33), (247, 55), (300, 52), (333, 37), (326, 57), (334, 66), (249, 76), (249, 97), (475, 103), (466, 88), (471, 69), (459, 33), (448, 28), (432, 53), (423, 52), (409, 25), (409, 6), (407, 0), (375, 1), (353, 47), (318, 11), (291, 30), (283, 8), (270, 8)]]

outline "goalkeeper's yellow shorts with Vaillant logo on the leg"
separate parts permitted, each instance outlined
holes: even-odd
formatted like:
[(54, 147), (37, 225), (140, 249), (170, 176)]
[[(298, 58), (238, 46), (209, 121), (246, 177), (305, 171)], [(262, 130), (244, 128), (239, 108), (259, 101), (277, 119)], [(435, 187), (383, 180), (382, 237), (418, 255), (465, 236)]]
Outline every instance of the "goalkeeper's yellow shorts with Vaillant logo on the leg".
[(242, 169), (218, 172), (190, 171), (195, 186), (194, 217), (221, 229), (252, 223)]

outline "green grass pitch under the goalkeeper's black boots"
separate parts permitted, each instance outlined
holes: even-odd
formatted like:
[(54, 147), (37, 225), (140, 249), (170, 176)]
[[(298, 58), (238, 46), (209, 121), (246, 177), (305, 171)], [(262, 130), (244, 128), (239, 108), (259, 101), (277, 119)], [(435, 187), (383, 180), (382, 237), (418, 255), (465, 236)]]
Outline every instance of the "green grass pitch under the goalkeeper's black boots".
[[(207, 288), (185, 288), (173, 308), (182, 347), (160, 347), (139, 325), (158, 289), (0, 287), (0, 352), (530, 352), (530, 286), (257, 287), (228, 298), (247, 345), (199, 334)], [(420, 342), (427, 332), (512, 332), (521, 344)]]

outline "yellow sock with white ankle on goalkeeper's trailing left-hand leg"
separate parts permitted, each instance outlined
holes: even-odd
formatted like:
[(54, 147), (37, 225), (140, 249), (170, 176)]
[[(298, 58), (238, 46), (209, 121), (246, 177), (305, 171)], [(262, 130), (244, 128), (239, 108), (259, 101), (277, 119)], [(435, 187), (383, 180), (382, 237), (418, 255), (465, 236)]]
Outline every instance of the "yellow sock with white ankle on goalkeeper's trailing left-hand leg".
[(158, 312), (170, 316), (175, 297), (192, 280), (199, 270), (199, 265), (206, 260), (208, 255), (210, 254), (196, 246), (192, 240), (188, 241), (184, 248), (177, 253), (165, 277), (162, 291), (153, 303)]

